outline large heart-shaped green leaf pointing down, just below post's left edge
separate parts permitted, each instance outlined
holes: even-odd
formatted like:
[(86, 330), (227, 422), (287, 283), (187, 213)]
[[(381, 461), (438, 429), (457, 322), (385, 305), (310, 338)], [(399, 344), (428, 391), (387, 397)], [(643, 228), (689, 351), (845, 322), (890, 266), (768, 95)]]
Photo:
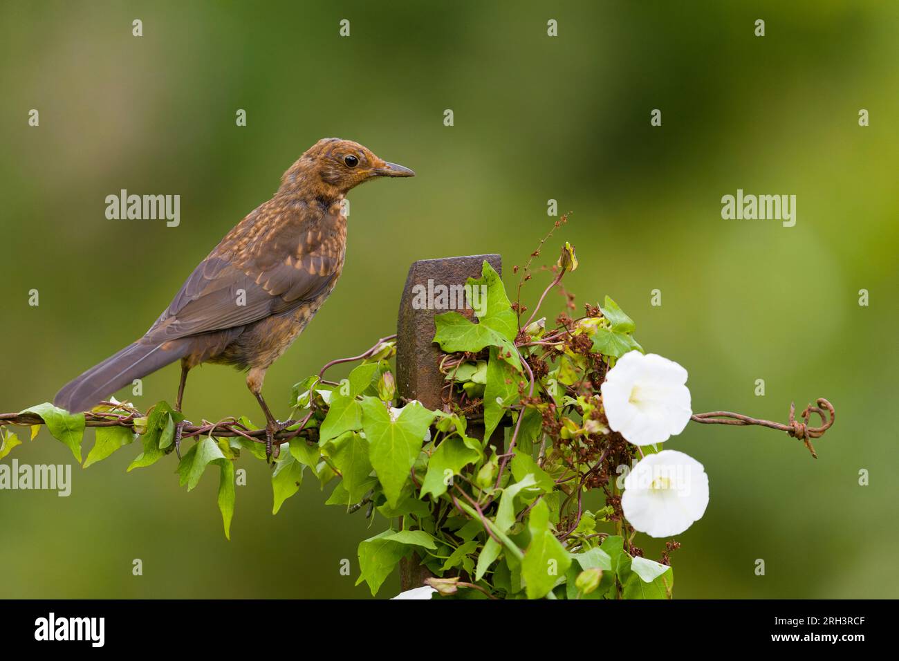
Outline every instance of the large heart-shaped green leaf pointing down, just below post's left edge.
[(390, 506), (396, 506), (434, 413), (414, 402), (403, 407), (394, 421), (375, 397), (362, 399), (362, 428), (369, 441), (369, 460), (384, 487)]

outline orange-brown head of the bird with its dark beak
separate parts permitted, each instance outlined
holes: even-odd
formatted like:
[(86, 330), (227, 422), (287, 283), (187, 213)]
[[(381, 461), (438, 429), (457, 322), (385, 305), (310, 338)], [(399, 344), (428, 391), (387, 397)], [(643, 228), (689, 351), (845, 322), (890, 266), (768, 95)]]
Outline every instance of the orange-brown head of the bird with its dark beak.
[(323, 138), (290, 166), (281, 185), (312, 186), (324, 189), (327, 196), (345, 195), (369, 179), (414, 175), (408, 167), (387, 163), (358, 142)]

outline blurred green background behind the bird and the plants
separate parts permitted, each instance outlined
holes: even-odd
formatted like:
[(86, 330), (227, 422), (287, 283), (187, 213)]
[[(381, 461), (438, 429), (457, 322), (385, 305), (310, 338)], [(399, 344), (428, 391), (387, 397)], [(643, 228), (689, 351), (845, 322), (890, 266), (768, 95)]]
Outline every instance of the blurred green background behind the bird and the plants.
[[(352, 138), (417, 176), (351, 193), (343, 279), (269, 371), (276, 415), (295, 381), (394, 331), (414, 260), (502, 253), (512, 284), (556, 199), (574, 214), (540, 261), (570, 240), (579, 305), (616, 299), (647, 351), (690, 371), (695, 411), (837, 407), (818, 460), (756, 428), (691, 424), (668, 443), (711, 484), (672, 557), (675, 594), (895, 596), (897, 33), (880, 2), (4, 2), (0, 410), (51, 399), (141, 335), (299, 154)], [(179, 193), (181, 226), (105, 219), (122, 188)], [(738, 188), (796, 194), (796, 227), (721, 219)], [(138, 406), (174, 399), (177, 379), (177, 365), (148, 377)], [(185, 409), (259, 417), (244, 377), (214, 365), (191, 372)], [(355, 549), (383, 520), (367, 531), (311, 478), (272, 517), (267, 469), (245, 459), (229, 542), (217, 476), (188, 494), (174, 456), (126, 475), (137, 453), (74, 467), (68, 498), (0, 491), (0, 596), (369, 595)], [(71, 460), (46, 431), (13, 458)]]

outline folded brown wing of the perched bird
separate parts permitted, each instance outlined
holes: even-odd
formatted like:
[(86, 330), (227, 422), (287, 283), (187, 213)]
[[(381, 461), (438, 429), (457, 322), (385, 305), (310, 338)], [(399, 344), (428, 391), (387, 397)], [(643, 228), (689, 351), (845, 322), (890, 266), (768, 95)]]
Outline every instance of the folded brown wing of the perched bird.
[(165, 342), (245, 326), (297, 308), (325, 291), (340, 274), (342, 260), (322, 247), (309, 246), (303, 254), (277, 263), (270, 258), (265, 260), (268, 264), (242, 267), (227, 255), (209, 255), (147, 331), (147, 339)]

